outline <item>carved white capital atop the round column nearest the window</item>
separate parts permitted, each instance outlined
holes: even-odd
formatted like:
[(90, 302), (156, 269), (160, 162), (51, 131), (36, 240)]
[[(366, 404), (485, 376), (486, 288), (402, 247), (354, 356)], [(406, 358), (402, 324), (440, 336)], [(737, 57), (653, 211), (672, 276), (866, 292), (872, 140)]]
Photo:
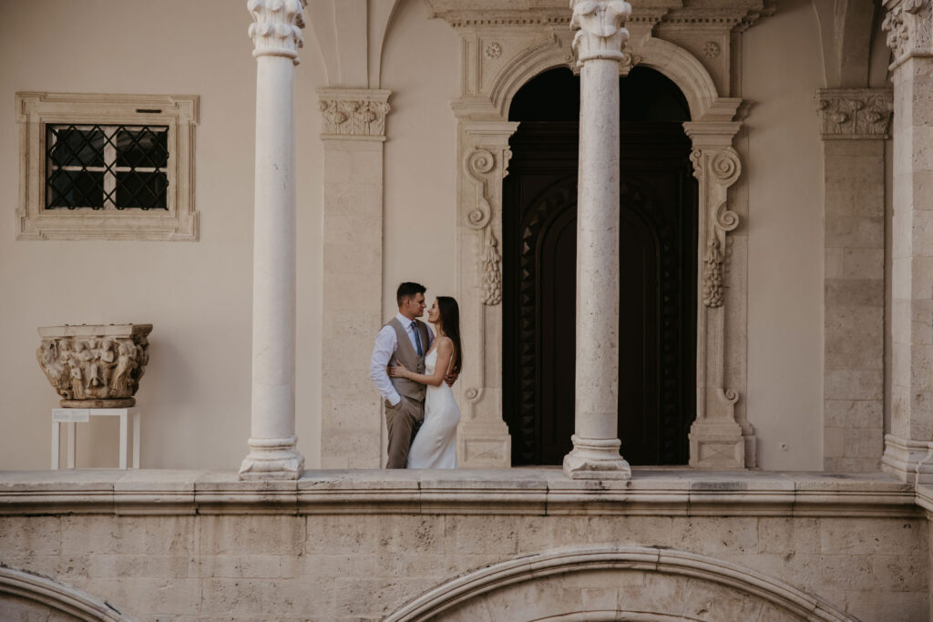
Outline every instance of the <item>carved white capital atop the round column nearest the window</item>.
[(298, 48), (304, 46), (304, 5), (304, 0), (248, 0), (253, 56), (285, 56), (298, 64)]

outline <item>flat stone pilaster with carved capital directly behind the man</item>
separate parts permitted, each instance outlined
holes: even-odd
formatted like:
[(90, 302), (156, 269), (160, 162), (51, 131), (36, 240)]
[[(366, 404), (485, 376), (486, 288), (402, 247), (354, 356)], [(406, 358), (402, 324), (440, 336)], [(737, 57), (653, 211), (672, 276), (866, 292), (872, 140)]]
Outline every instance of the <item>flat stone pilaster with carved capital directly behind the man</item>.
[(321, 467), (378, 469), (382, 399), (369, 380), (383, 313), (388, 90), (318, 89), (324, 142)]

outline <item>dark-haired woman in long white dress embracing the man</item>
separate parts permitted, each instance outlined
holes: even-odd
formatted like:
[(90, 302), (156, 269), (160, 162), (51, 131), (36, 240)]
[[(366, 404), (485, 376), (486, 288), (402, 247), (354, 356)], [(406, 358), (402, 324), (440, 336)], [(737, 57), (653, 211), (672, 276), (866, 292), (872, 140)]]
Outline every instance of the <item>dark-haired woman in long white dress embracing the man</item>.
[(439, 296), (427, 311), (427, 321), (434, 325), (438, 338), (434, 339), (431, 350), (425, 356), (425, 373), (411, 372), (396, 361), (397, 366), (389, 367), (389, 375), (427, 385), (425, 422), (411, 441), (408, 468), (455, 469), (460, 408), (453, 400), (453, 393), (444, 382), (444, 376), (451, 369), (459, 370), (463, 362), (457, 301), (449, 296)]

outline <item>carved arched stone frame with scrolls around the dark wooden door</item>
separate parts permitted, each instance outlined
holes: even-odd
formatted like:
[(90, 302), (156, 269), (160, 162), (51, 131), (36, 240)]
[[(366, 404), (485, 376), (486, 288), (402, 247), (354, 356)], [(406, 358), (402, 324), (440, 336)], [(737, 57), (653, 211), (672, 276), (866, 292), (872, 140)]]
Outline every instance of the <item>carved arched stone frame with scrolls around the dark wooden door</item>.
[[(548, 69), (576, 69), (563, 14), (550, 20), (461, 20), (444, 16), (460, 35), (461, 97), (452, 102), (457, 127), (457, 289), (468, 359), (461, 390), (466, 408), (458, 451), (465, 467), (511, 461), (502, 411), (502, 179), (508, 174), (511, 98)], [(566, 14), (569, 21), (569, 12)], [(689, 464), (748, 468), (757, 464), (754, 429), (745, 415), (747, 237), (731, 210), (729, 188), (742, 171), (731, 146), (742, 124), (741, 99), (718, 96), (696, 56), (654, 37), (632, 37), (633, 64), (669, 77), (687, 98), (685, 123), (698, 179), (697, 417), (689, 433)], [(479, 355), (481, 354), (481, 355)]]

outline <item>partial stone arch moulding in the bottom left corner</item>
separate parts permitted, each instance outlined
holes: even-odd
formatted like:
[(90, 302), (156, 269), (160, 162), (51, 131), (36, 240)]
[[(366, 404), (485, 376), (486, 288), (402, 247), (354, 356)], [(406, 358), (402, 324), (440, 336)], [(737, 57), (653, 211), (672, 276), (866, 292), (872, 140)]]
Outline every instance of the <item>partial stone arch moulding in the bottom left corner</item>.
[(75, 587), (66, 586), (38, 574), (0, 566), (0, 605), (5, 610), (23, 614), (58, 615), (76, 620), (128, 622), (106, 602)]

